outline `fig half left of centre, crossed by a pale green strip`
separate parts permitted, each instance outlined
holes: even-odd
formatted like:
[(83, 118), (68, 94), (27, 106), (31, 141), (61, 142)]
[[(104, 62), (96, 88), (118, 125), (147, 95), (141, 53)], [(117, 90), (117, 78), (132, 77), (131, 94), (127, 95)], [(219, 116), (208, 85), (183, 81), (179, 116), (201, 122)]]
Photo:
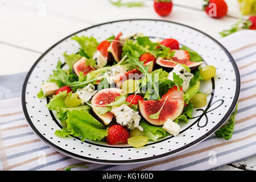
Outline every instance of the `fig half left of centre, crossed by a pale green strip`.
[[(94, 96), (92, 97), (91, 104), (94, 107), (105, 107), (104, 105), (108, 105), (111, 102), (115, 101), (115, 98), (119, 97), (122, 93), (122, 90), (119, 88), (106, 88), (98, 91)], [(99, 106), (102, 105), (102, 106)], [(105, 114), (98, 114), (95, 109), (92, 110), (94, 114), (105, 124), (108, 125), (112, 119), (113, 114), (108, 111)]]

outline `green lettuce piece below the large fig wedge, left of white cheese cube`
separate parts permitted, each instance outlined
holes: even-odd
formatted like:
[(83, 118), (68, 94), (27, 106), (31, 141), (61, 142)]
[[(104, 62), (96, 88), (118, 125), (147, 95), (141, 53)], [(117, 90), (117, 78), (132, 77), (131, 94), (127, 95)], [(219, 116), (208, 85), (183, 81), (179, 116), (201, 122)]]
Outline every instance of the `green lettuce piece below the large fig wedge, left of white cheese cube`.
[(167, 131), (164, 131), (162, 129), (162, 126), (151, 125), (144, 119), (141, 119), (139, 126), (143, 127), (143, 132), (145, 134), (145, 137), (154, 141), (159, 138), (163, 138), (163, 137), (166, 137), (167, 135), (170, 135)]

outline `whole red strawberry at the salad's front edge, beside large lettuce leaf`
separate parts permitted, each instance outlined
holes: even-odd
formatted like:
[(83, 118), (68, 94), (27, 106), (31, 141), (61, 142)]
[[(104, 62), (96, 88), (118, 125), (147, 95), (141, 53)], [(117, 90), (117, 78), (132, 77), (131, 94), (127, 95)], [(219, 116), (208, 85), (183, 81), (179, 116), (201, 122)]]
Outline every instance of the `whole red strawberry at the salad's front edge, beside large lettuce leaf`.
[(122, 125), (112, 125), (108, 129), (106, 142), (108, 142), (108, 144), (127, 143), (128, 138), (130, 138), (130, 133), (126, 127)]

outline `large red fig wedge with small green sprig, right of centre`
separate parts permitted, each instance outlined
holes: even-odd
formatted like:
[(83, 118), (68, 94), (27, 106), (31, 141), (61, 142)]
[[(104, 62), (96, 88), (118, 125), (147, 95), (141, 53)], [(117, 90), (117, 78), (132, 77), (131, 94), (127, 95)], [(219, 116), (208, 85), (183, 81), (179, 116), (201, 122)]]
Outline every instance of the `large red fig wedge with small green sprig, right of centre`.
[[(162, 126), (167, 119), (175, 121), (177, 117), (183, 112), (184, 100), (183, 100), (183, 90), (177, 90), (177, 87), (169, 89), (166, 94), (160, 100), (148, 100), (148, 101), (138, 101), (139, 111), (147, 122), (155, 126)], [(166, 97), (168, 98), (166, 99)], [(166, 102), (164, 103), (164, 101)], [(163, 105), (164, 104), (164, 105)], [(151, 114), (157, 113), (161, 107), (158, 119), (150, 118)]]

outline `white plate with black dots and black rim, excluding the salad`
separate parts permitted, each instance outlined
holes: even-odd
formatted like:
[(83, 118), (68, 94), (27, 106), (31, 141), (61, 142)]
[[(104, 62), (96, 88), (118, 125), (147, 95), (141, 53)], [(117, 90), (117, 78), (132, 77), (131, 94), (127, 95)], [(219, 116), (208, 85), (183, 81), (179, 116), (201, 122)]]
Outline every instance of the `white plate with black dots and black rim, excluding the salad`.
[[(71, 40), (72, 36), (94, 36), (101, 42), (119, 32), (124, 35), (143, 32), (145, 36), (152, 38), (177, 39), (181, 46), (198, 52), (204, 59), (204, 65), (214, 65), (217, 69), (216, 76), (211, 80), (202, 81), (200, 87), (202, 92), (212, 90), (207, 106), (193, 110), (194, 118), (181, 125), (178, 136), (150, 142), (141, 148), (133, 148), (127, 144), (110, 146), (104, 142), (90, 140), (82, 142), (75, 137), (57, 137), (54, 133), (61, 125), (46, 107), (47, 98), (39, 100), (36, 96), (40, 86), (52, 74), (58, 60), (64, 63), (63, 52), (71, 54), (79, 51), (79, 44)], [(236, 63), (230, 53), (209, 35), (195, 28), (165, 20), (131, 19), (85, 28), (49, 48), (28, 72), (22, 90), (22, 105), (32, 130), (57, 151), (93, 163), (131, 164), (167, 157), (201, 142), (226, 121), (236, 106), (239, 93), (240, 75)]]

